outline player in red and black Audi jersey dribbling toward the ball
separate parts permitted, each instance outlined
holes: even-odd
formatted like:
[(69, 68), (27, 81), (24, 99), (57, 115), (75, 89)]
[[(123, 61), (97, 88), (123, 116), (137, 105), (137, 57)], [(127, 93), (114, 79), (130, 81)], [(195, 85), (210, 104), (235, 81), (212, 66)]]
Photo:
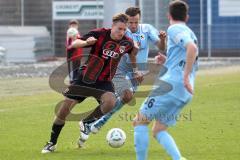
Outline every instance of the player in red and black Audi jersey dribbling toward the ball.
[(133, 67), (136, 67), (137, 49), (133, 41), (125, 36), (127, 21), (127, 15), (117, 14), (112, 19), (111, 29), (90, 31), (72, 43), (72, 48), (91, 47), (91, 51), (78, 79), (74, 80), (64, 92), (65, 99), (53, 122), (50, 141), (45, 145), (42, 153), (50, 153), (56, 149), (65, 119), (75, 104), (81, 103), (90, 96), (100, 102), (100, 105), (83, 120), (80, 138), (84, 140), (88, 138), (89, 123), (108, 113), (118, 103), (119, 99), (114, 95), (111, 80), (122, 55), (128, 53)]

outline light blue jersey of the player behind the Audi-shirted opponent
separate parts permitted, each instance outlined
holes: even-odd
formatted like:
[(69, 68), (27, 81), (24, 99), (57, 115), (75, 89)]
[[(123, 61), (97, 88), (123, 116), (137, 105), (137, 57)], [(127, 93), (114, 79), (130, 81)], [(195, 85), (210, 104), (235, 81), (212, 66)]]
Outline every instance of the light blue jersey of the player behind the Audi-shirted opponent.
[[(139, 45), (139, 51), (137, 54), (137, 63), (139, 70), (147, 69), (149, 42), (156, 44), (159, 41), (159, 32), (150, 24), (139, 24), (138, 30), (132, 33), (129, 29), (126, 31), (126, 35), (137, 42)], [(118, 65), (118, 71), (127, 73), (132, 71), (131, 61), (128, 54), (125, 54)], [(117, 73), (118, 73), (117, 71)]]

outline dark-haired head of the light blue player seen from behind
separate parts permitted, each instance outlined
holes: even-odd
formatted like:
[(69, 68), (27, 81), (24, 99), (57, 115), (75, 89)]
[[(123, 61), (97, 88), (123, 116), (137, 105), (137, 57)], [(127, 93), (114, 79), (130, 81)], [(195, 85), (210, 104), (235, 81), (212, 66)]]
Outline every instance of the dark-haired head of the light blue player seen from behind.
[(175, 0), (169, 4), (169, 14), (177, 21), (185, 21), (188, 9), (188, 4), (182, 0)]

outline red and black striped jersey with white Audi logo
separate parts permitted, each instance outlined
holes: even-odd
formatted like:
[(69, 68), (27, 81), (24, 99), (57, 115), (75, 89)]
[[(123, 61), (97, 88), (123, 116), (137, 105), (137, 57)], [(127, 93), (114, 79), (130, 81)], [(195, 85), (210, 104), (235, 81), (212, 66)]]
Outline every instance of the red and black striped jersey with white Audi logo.
[(111, 29), (100, 28), (81, 37), (82, 40), (89, 37), (97, 39), (97, 42), (90, 46), (88, 60), (82, 67), (85, 80), (90, 82), (111, 81), (121, 57), (125, 53), (131, 54), (133, 49), (132, 39), (123, 36), (121, 40), (116, 41), (111, 38), (110, 34)]

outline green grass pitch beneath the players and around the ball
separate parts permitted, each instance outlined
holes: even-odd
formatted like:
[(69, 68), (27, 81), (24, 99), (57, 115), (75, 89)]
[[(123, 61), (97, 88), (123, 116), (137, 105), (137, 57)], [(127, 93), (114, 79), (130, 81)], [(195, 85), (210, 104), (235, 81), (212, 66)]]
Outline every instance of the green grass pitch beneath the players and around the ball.
[[(144, 99), (115, 114), (101, 132), (90, 136), (84, 149), (76, 148), (78, 123), (66, 123), (57, 151), (42, 155), (54, 108), (63, 97), (49, 89), (47, 78), (1, 79), (0, 87), (0, 160), (135, 159), (131, 120)], [(96, 102), (88, 99), (73, 112), (95, 106)], [(194, 99), (182, 115), (169, 132), (188, 160), (240, 159), (240, 67), (199, 71)], [(106, 143), (106, 133), (113, 127), (127, 134), (122, 148), (113, 149)], [(149, 160), (170, 160), (152, 136)]]

